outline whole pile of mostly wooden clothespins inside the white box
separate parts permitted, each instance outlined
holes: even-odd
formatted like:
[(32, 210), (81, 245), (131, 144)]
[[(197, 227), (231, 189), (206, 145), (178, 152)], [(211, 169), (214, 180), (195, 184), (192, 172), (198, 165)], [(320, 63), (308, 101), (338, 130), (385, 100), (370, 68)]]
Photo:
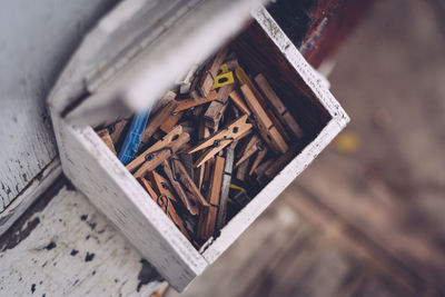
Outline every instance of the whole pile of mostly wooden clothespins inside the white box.
[(265, 76), (251, 80), (227, 48), (151, 111), (97, 132), (196, 247), (296, 156), (289, 143), (303, 136)]

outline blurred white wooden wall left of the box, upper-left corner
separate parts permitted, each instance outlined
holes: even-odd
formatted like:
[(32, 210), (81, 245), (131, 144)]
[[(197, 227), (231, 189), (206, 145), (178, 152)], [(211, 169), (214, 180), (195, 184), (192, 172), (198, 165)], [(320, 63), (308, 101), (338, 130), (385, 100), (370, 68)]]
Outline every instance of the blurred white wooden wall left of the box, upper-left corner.
[(52, 169), (42, 174), (51, 162), (59, 164), (44, 99), (83, 33), (116, 2), (2, 2), (0, 234), (50, 184), (41, 178), (57, 176)]

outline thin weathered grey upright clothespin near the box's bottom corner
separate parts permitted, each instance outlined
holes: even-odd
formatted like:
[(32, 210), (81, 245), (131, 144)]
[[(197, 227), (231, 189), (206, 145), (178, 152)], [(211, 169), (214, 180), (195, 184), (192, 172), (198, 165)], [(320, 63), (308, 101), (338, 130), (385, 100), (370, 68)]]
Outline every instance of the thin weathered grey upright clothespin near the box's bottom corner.
[(221, 229), (226, 225), (227, 199), (229, 198), (229, 187), (231, 181), (231, 170), (234, 168), (234, 149), (229, 147), (226, 152), (226, 161), (222, 171), (221, 194), (219, 199), (218, 217), (216, 220), (217, 230)]

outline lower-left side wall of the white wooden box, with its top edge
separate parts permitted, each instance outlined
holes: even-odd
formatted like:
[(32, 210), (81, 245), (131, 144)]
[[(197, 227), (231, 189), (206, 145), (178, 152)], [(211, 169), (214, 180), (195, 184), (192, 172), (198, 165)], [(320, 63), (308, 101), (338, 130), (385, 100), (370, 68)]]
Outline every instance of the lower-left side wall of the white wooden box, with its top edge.
[[(69, 179), (107, 214), (171, 286), (182, 290), (207, 263), (91, 128), (75, 130), (56, 121), (57, 116), (53, 119)], [(97, 166), (91, 166), (95, 162)]]

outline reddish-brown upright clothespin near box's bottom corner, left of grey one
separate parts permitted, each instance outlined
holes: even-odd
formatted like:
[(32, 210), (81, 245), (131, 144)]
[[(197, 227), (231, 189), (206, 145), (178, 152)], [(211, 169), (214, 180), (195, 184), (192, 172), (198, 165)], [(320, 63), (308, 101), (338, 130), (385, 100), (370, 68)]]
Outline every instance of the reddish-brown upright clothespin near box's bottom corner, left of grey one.
[(201, 211), (198, 222), (198, 237), (204, 240), (208, 239), (215, 234), (225, 162), (226, 160), (224, 157), (217, 156), (215, 158), (215, 167), (210, 181), (210, 191), (207, 196), (207, 201), (210, 204), (210, 206)]

